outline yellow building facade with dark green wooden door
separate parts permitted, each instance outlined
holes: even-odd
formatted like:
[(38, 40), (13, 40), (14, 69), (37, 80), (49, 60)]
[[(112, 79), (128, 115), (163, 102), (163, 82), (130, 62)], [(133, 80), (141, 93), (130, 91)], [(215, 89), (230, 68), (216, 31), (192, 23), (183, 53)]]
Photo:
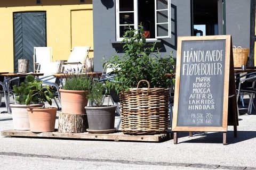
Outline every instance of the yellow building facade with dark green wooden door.
[(17, 72), (20, 58), (33, 64), (35, 46), (52, 47), (53, 61), (74, 46), (91, 46), (93, 57), (92, 0), (2, 0), (0, 25), (0, 72)]

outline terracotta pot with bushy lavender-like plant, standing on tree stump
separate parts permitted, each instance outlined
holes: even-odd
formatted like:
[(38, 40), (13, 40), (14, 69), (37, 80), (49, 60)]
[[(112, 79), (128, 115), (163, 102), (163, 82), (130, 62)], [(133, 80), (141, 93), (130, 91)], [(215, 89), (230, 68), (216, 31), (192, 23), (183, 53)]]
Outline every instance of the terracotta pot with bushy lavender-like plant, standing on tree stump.
[(67, 114), (85, 114), (87, 95), (91, 87), (92, 78), (86, 75), (70, 75), (60, 89), (61, 110)]

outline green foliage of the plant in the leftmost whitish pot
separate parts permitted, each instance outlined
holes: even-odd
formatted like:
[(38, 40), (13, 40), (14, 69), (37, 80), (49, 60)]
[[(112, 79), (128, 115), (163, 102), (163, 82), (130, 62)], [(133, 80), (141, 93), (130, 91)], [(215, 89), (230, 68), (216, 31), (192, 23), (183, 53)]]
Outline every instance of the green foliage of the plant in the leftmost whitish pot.
[[(25, 105), (26, 104), (26, 99), (27, 95), (29, 94), (29, 83), (34, 82), (35, 77), (33, 75), (27, 75), (25, 78), (25, 81), (20, 83), (20, 86), (13, 86), (13, 91), (15, 94), (15, 99), (18, 101), (19, 104)], [(38, 96), (33, 96), (31, 98), (30, 104), (38, 104), (40, 103)]]

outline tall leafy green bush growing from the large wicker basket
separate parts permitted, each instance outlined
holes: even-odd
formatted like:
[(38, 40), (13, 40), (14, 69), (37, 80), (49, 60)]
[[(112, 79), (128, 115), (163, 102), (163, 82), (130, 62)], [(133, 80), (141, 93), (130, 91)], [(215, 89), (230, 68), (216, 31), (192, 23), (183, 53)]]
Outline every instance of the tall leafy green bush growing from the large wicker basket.
[[(117, 70), (114, 81), (107, 82), (110, 89), (129, 90), (137, 87), (137, 83), (144, 79), (150, 82), (150, 87), (167, 88), (173, 84), (173, 78), (166, 77), (166, 73), (173, 73), (174, 60), (172, 52), (162, 57), (154, 44), (146, 44), (143, 37), (143, 27), (139, 30), (129, 28), (124, 33), (123, 56), (112, 56), (107, 62), (108, 67)], [(142, 87), (147, 87), (143, 84)]]

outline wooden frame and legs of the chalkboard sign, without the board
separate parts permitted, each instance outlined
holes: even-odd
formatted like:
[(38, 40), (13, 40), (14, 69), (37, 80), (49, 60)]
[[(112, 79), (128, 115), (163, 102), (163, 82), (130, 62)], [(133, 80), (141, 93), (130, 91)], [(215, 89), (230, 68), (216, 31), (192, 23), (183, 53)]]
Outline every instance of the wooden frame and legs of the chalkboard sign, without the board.
[[(180, 94), (180, 74), (181, 74), (181, 57), (182, 57), (182, 41), (203, 41), (203, 40), (226, 40), (225, 45), (225, 70), (224, 70), (224, 87), (223, 87), (223, 114), (222, 114), (222, 126), (178, 126), (178, 106), (179, 106), (179, 94)], [(230, 79), (230, 76), (234, 77), (234, 65), (233, 65), (233, 52), (231, 36), (197, 36), (197, 37), (178, 37), (178, 49), (177, 49), (177, 67), (176, 67), (176, 77), (175, 77), (175, 90), (174, 90), (174, 109), (173, 109), (173, 122), (172, 122), (172, 131), (174, 132), (174, 143), (178, 142), (177, 132), (179, 131), (188, 131), (190, 132), (223, 132), (223, 144), (226, 145), (226, 132), (228, 126), (228, 112), (229, 111), (229, 100), (230, 97), (236, 96), (235, 90), (235, 81)], [(232, 70), (233, 69), (233, 70)], [(231, 83), (229, 81), (232, 81)], [(234, 82), (233, 82), (234, 81)], [(230, 84), (232, 84), (230, 88)], [(230, 88), (230, 89), (229, 89)], [(182, 90), (182, 89), (181, 89)], [(232, 90), (232, 92), (230, 92)], [(234, 99), (233, 99), (234, 101)], [(231, 105), (236, 105), (232, 107), (234, 109), (234, 125), (235, 137), (236, 137), (236, 117), (237, 117), (237, 104), (234, 102)], [(229, 113), (231, 114), (231, 113)]]

